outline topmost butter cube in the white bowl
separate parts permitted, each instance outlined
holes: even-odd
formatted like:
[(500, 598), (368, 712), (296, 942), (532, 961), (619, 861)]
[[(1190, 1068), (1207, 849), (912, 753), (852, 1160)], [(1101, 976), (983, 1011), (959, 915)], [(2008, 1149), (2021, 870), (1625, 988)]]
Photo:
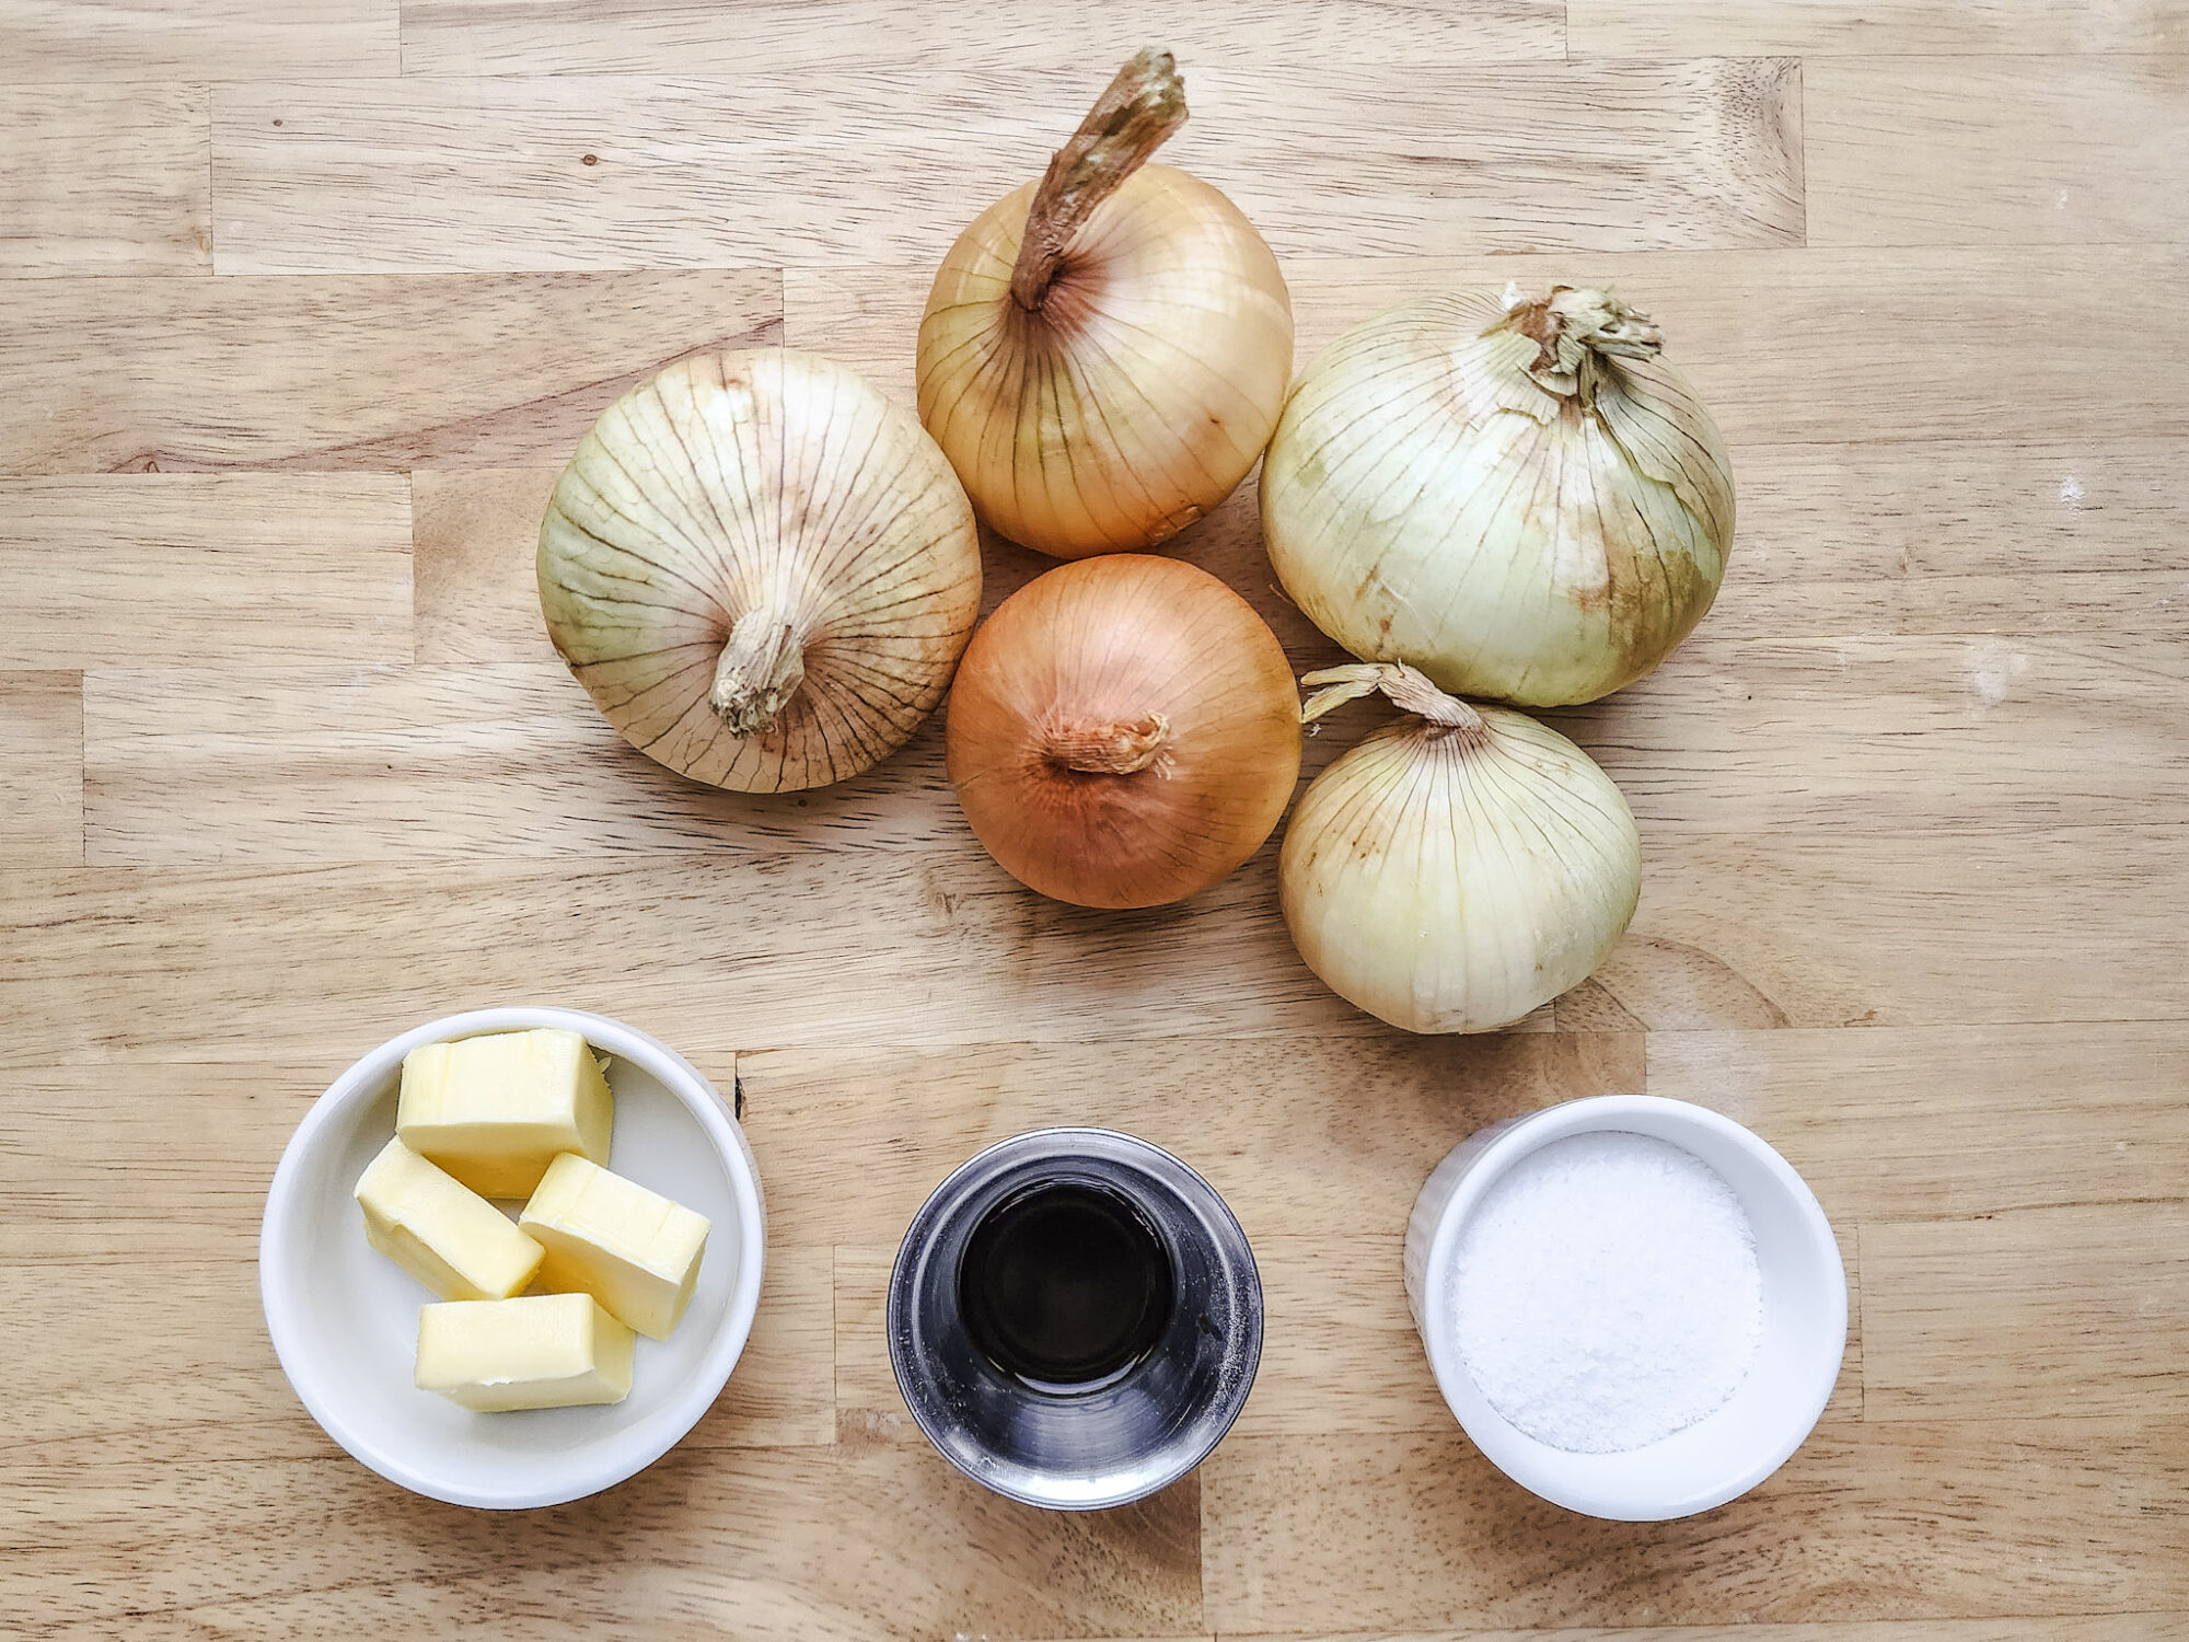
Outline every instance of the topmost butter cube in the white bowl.
[(584, 1038), (536, 1027), (403, 1057), (396, 1134), (484, 1198), (528, 1198), (560, 1152), (609, 1160), (615, 1097)]

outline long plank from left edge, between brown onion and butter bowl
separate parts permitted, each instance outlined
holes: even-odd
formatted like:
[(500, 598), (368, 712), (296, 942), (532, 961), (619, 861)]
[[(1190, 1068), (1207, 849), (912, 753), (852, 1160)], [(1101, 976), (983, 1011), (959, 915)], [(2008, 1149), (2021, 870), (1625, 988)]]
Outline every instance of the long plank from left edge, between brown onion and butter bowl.
[[(37, 939), (26, 939), (37, 930)], [(690, 968), (633, 952), (692, 950)], [(1224, 968), (1224, 963), (1239, 968)], [(725, 1009), (722, 998), (736, 996)], [(1265, 852), (1165, 913), (1038, 904), (985, 858), (836, 852), (0, 878), (0, 1064), (278, 1060), (497, 998), (567, 998), (685, 1051), (1340, 1033)], [(1550, 1009), (1521, 1027), (1550, 1031)]]

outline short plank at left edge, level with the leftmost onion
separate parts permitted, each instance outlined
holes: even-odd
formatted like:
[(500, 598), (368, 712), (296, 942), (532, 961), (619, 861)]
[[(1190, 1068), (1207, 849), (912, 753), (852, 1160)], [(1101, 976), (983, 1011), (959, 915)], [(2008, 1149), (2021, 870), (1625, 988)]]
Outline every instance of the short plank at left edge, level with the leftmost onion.
[(409, 661), (409, 484), (392, 473), (0, 477), (0, 578), (22, 589), (0, 666)]

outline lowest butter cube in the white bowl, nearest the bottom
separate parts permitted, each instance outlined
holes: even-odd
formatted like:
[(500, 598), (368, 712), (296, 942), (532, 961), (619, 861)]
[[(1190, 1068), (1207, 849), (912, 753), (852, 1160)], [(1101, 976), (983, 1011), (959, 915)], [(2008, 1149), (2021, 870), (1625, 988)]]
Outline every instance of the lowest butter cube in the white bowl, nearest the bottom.
[(418, 1307), (418, 1390), (499, 1414), (630, 1395), (633, 1333), (587, 1294)]

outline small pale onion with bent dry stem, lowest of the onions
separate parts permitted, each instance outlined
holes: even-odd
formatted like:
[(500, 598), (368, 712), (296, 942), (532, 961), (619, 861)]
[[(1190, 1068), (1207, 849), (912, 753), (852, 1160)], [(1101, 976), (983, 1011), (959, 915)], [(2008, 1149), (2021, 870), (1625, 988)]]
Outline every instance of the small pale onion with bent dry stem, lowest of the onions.
[(1626, 799), (1565, 736), (1414, 668), (1307, 674), (1320, 718), (1383, 692), (1408, 718), (1313, 779), (1278, 856), (1307, 968), (1408, 1031), (1491, 1031), (1605, 961), (1642, 895)]

